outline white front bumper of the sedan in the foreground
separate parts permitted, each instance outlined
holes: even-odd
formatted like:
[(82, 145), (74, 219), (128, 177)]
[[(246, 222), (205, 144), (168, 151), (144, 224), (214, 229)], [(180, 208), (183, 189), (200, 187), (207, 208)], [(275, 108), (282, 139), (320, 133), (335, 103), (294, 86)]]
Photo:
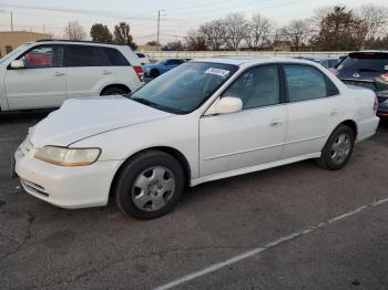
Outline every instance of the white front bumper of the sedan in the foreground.
[(34, 158), (35, 149), (25, 143), (28, 139), (14, 154), (14, 168), (28, 194), (62, 208), (106, 205), (119, 160), (80, 167), (57, 166)]

